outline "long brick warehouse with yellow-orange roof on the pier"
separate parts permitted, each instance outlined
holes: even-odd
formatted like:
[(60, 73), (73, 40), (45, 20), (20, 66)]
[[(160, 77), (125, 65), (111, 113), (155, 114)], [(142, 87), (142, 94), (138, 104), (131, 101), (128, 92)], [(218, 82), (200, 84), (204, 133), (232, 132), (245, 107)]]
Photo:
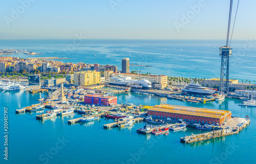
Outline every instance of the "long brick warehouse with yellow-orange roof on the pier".
[(158, 119), (182, 119), (191, 123), (220, 125), (231, 119), (231, 111), (208, 108), (160, 104), (147, 110), (147, 115)]

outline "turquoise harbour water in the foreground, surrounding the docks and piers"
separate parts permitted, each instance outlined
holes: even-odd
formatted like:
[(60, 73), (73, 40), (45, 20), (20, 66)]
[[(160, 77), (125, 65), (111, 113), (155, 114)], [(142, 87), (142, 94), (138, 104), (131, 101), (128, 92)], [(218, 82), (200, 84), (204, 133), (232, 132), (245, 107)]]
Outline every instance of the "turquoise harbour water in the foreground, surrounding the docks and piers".
[[(167, 135), (154, 136), (136, 132), (144, 123), (128, 128), (103, 129), (103, 124), (113, 120), (103, 118), (69, 125), (67, 120), (81, 115), (58, 116), (39, 121), (35, 116), (41, 112), (15, 114), (16, 107), (34, 104), (40, 96), (44, 97), (44, 94), (0, 93), (0, 105), (9, 109), (9, 163), (254, 163), (256, 160), (256, 108), (239, 107), (240, 101), (236, 99), (227, 99), (221, 104), (197, 104), (133, 93), (118, 95), (118, 103), (168, 103), (227, 109), (232, 111), (233, 116), (248, 115), (251, 119), (251, 124), (239, 134), (183, 144), (180, 143), (180, 137), (200, 131), (187, 127), (184, 131), (170, 131)], [(0, 114), (2, 129), (3, 110)], [(3, 138), (0, 141), (3, 152)], [(45, 153), (49, 153), (49, 156)]]

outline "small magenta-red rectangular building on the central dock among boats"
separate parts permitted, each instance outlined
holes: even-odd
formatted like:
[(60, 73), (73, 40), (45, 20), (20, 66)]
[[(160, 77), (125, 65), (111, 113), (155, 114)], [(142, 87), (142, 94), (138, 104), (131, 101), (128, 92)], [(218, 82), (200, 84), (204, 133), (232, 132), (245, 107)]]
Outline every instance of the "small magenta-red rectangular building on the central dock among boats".
[(85, 95), (84, 103), (95, 104), (100, 106), (110, 106), (112, 104), (117, 104), (116, 96), (102, 96), (102, 95)]

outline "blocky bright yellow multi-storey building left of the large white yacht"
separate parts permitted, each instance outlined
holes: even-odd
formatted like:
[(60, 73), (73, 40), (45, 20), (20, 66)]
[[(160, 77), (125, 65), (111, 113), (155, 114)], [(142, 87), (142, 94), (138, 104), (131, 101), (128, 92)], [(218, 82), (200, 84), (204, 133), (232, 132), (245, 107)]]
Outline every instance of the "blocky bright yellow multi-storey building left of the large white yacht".
[(100, 84), (100, 72), (97, 71), (81, 71), (74, 73), (75, 86), (95, 86)]

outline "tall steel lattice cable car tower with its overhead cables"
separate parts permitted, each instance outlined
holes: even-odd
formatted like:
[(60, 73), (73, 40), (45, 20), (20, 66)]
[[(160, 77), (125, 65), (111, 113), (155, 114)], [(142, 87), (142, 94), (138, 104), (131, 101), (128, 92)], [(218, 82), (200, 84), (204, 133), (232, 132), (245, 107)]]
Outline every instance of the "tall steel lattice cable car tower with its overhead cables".
[[(221, 78), (220, 78), (221, 94), (229, 93), (229, 57), (231, 57), (232, 48), (230, 47), (230, 43), (228, 46), (228, 40), (229, 40), (229, 30), (230, 30), (230, 21), (231, 21), (231, 13), (232, 13), (232, 3), (233, 1), (230, 0), (226, 45), (219, 48), (220, 57), (221, 57)], [(238, 4), (239, 4), (239, 1), (238, 1)], [(237, 6), (237, 10), (238, 10), (238, 6)], [(237, 16), (237, 11), (236, 11), (236, 16)], [(234, 18), (234, 22), (236, 21), (236, 16)], [(233, 28), (234, 28), (234, 24), (233, 24)], [(232, 30), (232, 34), (233, 34), (233, 30)], [(230, 42), (232, 39), (232, 34), (231, 34)]]

